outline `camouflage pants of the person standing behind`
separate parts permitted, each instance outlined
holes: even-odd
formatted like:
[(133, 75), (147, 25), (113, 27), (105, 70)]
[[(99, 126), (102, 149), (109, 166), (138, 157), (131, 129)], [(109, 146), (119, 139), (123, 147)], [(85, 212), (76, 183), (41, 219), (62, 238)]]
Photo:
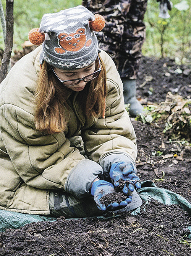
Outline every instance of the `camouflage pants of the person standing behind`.
[(106, 20), (105, 28), (97, 32), (99, 47), (112, 57), (122, 78), (136, 79), (147, 0), (83, 0), (82, 4)]

